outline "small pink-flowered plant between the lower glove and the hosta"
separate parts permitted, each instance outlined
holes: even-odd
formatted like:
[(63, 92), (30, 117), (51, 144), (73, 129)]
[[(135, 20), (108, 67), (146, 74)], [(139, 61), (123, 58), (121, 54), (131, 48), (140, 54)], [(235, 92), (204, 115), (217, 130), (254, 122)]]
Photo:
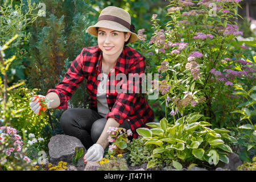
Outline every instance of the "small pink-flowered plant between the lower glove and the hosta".
[(122, 154), (126, 151), (127, 143), (130, 143), (128, 137), (133, 135), (131, 130), (126, 130), (122, 127), (109, 127), (108, 141), (112, 144), (109, 146), (109, 155)]

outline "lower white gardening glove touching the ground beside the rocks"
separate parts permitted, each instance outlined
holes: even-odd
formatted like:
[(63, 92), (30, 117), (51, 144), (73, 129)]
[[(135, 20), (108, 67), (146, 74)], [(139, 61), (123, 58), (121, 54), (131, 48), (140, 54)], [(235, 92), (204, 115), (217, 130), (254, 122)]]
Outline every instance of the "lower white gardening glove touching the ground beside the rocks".
[(98, 160), (100, 161), (103, 158), (103, 155), (104, 148), (100, 144), (95, 143), (88, 149), (88, 151), (84, 155), (84, 162)]

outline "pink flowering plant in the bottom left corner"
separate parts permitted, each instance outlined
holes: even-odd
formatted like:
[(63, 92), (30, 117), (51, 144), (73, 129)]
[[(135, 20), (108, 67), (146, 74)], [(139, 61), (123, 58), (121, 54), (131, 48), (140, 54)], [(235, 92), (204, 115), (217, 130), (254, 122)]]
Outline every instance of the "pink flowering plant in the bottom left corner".
[(0, 127), (0, 169), (31, 169), (31, 159), (26, 156), (23, 140), (10, 126)]

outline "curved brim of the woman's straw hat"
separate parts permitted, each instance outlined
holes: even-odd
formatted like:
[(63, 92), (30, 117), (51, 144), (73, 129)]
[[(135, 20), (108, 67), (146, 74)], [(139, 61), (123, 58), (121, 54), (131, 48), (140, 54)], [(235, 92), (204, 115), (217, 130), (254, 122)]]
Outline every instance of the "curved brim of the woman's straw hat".
[(90, 35), (98, 36), (96, 27), (109, 28), (111, 30), (117, 30), (117, 31), (121, 31), (121, 32), (130, 32), (131, 33), (131, 38), (130, 38), (129, 43), (136, 42), (136, 40), (138, 38), (137, 34), (135, 34), (134, 32), (131, 32), (125, 26), (122, 26), (121, 24), (119, 24), (117, 22), (113, 22), (113, 21), (109, 21), (109, 20), (100, 20), (99, 22), (97, 22), (93, 26), (88, 27), (86, 31)]

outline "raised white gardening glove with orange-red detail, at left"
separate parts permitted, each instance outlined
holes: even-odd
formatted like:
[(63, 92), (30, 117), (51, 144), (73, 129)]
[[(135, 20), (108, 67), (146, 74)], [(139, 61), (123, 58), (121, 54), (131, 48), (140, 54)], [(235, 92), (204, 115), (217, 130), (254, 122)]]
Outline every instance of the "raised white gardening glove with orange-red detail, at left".
[(35, 114), (39, 115), (40, 111), (46, 111), (49, 108), (49, 100), (46, 96), (35, 95), (30, 98), (30, 107)]

